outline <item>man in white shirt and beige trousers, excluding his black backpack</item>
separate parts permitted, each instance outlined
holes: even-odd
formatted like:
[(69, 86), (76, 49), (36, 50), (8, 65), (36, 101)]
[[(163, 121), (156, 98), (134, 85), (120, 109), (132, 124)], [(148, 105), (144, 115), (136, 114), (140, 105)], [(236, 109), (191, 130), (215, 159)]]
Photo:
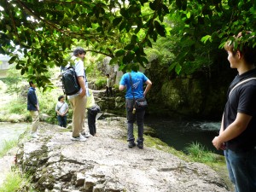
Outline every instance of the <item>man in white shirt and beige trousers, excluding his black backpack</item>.
[(68, 96), (68, 99), (73, 108), (73, 133), (71, 140), (85, 142), (86, 138), (81, 135), (83, 132), (83, 124), (84, 124), (84, 113), (86, 108), (86, 87), (85, 87), (85, 73), (84, 73), (84, 57), (85, 50), (83, 48), (77, 48), (73, 51), (73, 62), (74, 62), (74, 70), (77, 76), (77, 80), (80, 85), (80, 90)]

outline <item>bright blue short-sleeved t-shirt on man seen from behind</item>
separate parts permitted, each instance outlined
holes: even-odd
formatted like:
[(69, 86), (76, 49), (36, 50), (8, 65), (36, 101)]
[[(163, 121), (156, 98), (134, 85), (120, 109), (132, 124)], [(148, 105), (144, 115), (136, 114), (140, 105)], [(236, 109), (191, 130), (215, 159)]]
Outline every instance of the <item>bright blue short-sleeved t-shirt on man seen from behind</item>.
[(134, 97), (143, 98), (143, 84), (148, 80), (148, 78), (141, 72), (133, 72), (131, 71), (131, 81), (129, 73), (125, 73), (120, 80), (119, 84), (126, 85), (126, 99), (133, 99), (132, 90), (131, 90), (131, 82), (133, 87)]

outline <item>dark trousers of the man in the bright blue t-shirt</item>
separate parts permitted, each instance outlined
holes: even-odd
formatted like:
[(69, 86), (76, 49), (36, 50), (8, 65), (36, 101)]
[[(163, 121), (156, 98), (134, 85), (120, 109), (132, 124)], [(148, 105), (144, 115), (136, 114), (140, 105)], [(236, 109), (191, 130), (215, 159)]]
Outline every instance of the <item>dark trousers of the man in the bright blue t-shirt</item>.
[(126, 99), (126, 117), (127, 117), (127, 141), (134, 141), (133, 124), (137, 122), (137, 143), (143, 143), (144, 115), (145, 109), (136, 109), (132, 113), (133, 99)]

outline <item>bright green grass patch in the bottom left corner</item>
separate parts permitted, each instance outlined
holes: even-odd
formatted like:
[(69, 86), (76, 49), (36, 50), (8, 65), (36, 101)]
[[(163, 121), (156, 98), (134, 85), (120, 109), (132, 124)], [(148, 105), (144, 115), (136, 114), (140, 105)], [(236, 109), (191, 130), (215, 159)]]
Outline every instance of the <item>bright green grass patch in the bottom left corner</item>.
[[(14, 192), (14, 191), (18, 191), (18, 189), (25, 188), (28, 185), (29, 185), (29, 178), (22, 175), (19, 171), (15, 170), (15, 171), (9, 172), (6, 175), (2, 186), (0, 187), (0, 192)], [(28, 189), (26, 191), (32, 191), (32, 190)]]

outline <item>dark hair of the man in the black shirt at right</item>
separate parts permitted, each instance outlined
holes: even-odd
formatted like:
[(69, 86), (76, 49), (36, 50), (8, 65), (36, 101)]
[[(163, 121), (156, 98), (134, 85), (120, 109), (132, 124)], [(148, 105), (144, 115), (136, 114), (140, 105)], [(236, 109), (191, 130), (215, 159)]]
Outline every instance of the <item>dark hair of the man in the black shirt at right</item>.
[[(246, 32), (245, 35), (250, 33)], [(253, 48), (252, 44), (242, 42), (241, 37), (242, 33), (239, 32), (235, 39), (229, 40), (224, 45), (224, 49), (232, 53), (233, 56), (240, 55), (247, 64), (254, 65), (256, 62), (256, 48)]]

